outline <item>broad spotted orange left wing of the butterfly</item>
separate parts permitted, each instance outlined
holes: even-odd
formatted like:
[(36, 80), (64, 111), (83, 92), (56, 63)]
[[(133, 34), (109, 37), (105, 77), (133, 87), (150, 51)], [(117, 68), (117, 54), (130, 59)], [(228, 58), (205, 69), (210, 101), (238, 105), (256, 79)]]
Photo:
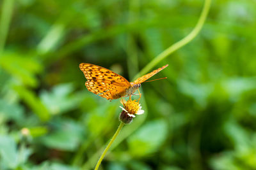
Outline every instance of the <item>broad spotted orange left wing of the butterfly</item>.
[(108, 100), (116, 99), (117, 94), (125, 92), (131, 87), (129, 81), (124, 77), (104, 67), (81, 63), (79, 68), (88, 80), (85, 83), (87, 89)]

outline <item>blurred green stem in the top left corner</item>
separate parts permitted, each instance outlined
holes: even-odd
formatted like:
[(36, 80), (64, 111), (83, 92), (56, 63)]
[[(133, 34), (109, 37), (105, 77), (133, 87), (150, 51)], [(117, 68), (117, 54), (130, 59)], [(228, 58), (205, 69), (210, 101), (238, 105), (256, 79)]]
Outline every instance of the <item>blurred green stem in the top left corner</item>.
[(4, 50), (4, 45), (12, 18), (13, 0), (3, 1), (1, 18), (0, 18), (0, 53)]

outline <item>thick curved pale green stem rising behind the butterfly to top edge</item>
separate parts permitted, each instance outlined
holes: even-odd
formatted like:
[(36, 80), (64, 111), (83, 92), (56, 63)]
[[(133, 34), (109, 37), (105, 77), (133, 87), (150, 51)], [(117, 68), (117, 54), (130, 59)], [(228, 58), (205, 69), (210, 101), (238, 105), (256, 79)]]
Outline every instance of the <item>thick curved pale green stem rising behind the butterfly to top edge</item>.
[(202, 27), (204, 25), (204, 22), (205, 22), (205, 19), (207, 17), (207, 14), (209, 12), (210, 6), (211, 6), (211, 0), (205, 0), (204, 8), (202, 10), (200, 18), (199, 18), (195, 28), (193, 29), (193, 31), (191, 31), (188, 34), (188, 36), (186, 36), (185, 38), (181, 39), (177, 43), (171, 45), (169, 48), (167, 48), (166, 50), (161, 52), (159, 55), (157, 55), (157, 57), (154, 58), (153, 60), (151, 60), (151, 62), (149, 62), (147, 64), (147, 66), (145, 66), (140, 71), (140, 73), (136, 74), (135, 78), (138, 78), (140, 75), (144, 75), (144, 74), (148, 73), (148, 71), (150, 71), (154, 66), (156, 66), (156, 64), (158, 64), (161, 60), (165, 59), (171, 53), (175, 52), (176, 50), (178, 50), (182, 46), (188, 44), (192, 39), (194, 39), (198, 35), (198, 33), (200, 32), (200, 30), (202, 29)]

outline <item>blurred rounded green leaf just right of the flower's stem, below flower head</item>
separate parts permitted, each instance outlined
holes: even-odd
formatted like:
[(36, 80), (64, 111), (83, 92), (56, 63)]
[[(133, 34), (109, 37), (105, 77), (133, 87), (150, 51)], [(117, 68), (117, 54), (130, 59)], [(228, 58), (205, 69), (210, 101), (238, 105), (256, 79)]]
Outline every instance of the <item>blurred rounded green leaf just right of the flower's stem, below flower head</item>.
[(128, 138), (129, 152), (134, 157), (156, 152), (163, 144), (167, 131), (167, 124), (164, 120), (148, 122)]

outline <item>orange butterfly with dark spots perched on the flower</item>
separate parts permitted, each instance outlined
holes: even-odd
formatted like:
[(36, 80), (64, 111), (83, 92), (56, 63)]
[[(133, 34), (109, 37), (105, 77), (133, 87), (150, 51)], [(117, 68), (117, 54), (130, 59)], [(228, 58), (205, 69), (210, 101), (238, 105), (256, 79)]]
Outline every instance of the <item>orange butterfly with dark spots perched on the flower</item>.
[(151, 73), (141, 76), (133, 82), (129, 82), (123, 76), (104, 67), (89, 63), (79, 64), (79, 68), (83, 71), (84, 76), (87, 79), (85, 82), (87, 89), (108, 100), (118, 99), (125, 96), (131, 97), (132, 94), (140, 88), (141, 83), (148, 80), (148, 78), (154, 76), (154, 74), (167, 66), (168, 64)]

